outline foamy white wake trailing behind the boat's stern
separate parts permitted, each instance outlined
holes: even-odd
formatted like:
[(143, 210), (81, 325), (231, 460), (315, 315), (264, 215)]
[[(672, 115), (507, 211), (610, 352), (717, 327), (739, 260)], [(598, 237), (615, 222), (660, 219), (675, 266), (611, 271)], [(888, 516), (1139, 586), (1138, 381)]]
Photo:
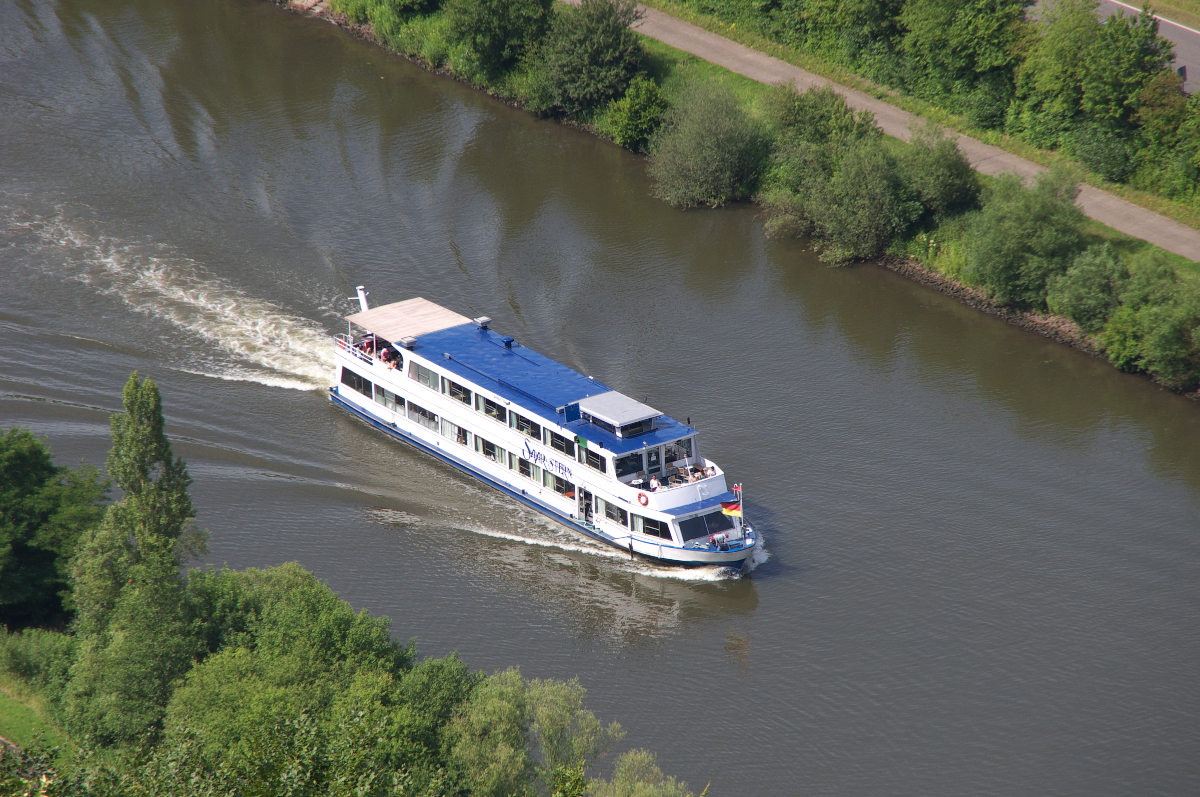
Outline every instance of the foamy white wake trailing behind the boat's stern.
[(167, 246), (89, 233), (61, 216), (20, 226), (54, 250), (38, 258), (44, 268), (188, 332), (166, 336), (168, 350), (186, 354), (186, 364), (173, 364), (179, 370), (295, 390), (329, 383), (334, 353), (324, 328), (247, 295), (196, 260)]

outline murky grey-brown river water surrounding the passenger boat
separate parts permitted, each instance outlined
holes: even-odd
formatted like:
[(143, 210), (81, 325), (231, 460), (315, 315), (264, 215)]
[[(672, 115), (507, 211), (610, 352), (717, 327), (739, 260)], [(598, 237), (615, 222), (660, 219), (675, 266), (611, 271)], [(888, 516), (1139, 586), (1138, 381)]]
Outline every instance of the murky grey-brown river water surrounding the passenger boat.
[[(0, 0), (0, 426), (162, 386), (214, 564), (578, 676), (713, 795), (1200, 792), (1200, 407), (250, 0)], [(324, 395), (365, 284), (701, 430), (731, 581), (589, 544)]]

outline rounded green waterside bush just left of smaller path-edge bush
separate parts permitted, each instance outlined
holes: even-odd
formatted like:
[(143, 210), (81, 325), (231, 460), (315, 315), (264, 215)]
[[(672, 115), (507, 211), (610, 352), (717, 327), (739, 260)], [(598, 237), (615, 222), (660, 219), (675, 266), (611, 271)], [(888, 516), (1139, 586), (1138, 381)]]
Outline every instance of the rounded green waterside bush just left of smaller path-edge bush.
[(834, 265), (883, 254), (920, 211), (895, 158), (875, 139), (851, 149), (804, 199), (817, 253)]

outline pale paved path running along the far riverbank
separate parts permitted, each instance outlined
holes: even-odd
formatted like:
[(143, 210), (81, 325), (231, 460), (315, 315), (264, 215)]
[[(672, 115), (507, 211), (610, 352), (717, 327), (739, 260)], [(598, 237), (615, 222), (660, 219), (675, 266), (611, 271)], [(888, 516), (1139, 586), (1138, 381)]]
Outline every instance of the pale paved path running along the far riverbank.
[[(875, 120), (888, 136), (908, 140), (908, 126), (916, 116), (906, 110), (862, 91), (838, 85), (818, 74), (732, 42), (661, 11), (643, 7), (642, 12), (646, 18), (635, 25), (638, 32), (760, 83), (791, 80), (802, 90), (815, 85), (830, 85), (846, 97), (852, 108), (874, 113)], [(983, 174), (1015, 172), (1024, 178), (1031, 178), (1043, 170), (1043, 167), (1036, 163), (974, 138), (959, 134), (958, 144), (972, 168)], [(1189, 260), (1200, 262), (1198, 229), (1159, 216), (1090, 185), (1081, 186), (1079, 205), (1085, 214), (1114, 229), (1147, 240)]]

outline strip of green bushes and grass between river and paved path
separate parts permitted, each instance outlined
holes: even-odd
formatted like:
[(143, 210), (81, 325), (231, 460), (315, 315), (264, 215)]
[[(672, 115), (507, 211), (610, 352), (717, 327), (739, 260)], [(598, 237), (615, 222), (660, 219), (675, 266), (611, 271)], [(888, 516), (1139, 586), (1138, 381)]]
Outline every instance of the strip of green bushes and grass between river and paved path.
[[(1074, 173), (979, 175), (934, 122), (889, 138), (832, 89), (762, 85), (634, 32), (628, 0), (275, 1), (646, 155), (676, 206), (755, 202), (770, 235), (830, 265), (880, 263), (1200, 398), (1200, 266), (1087, 220)], [(1160, 54), (1146, 18), (1126, 23)]]

